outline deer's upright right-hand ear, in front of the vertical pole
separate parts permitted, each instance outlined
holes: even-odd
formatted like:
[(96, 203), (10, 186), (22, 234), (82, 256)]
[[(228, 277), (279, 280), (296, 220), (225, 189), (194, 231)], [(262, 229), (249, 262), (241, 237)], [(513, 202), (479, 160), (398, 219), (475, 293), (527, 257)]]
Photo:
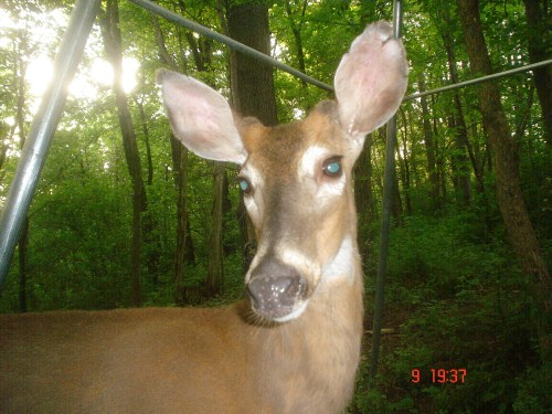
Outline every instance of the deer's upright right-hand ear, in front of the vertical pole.
[(341, 59), (333, 79), (342, 128), (358, 137), (385, 124), (401, 104), (407, 75), (406, 54), (391, 25), (370, 24)]

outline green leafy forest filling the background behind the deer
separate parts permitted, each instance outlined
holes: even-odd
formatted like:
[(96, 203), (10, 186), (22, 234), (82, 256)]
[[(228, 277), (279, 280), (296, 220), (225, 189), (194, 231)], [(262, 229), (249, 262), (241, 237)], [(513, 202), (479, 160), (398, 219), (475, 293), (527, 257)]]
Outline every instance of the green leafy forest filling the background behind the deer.
[[(460, 2), (460, 1), (458, 1)], [(229, 10), (244, 1), (158, 1), (225, 33)], [(455, 1), (405, 2), (403, 39), (411, 65), (407, 95), (481, 75), (471, 71)], [(541, 25), (528, 21), (538, 4)], [(332, 83), (340, 57), (370, 21), (391, 20), (391, 1), (273, 0), (272, 55)], [(0, 7), (0, 209), (67, 22), (72, 1), (4, 1)], [(184, 153), (176, 159), (155, 73), (178, 71), (230, 98), (226, 46), (153, 19), (119, 1), (124, 79), (141, 161), (147, 208), (139, 255), (140, 305), (214, 306), (242, 296), (244, 236), (238, 225), (236, 169), (224, 169), (223, 275), (217, 295), (205, 289), (212, 266), (216, 166)], [(104, 6), (103, 6), (104, 8)], [(550, 34), (548, 1), (479, 4), (495, 72), (526, 65)], [(12, 261), (0, 311), (108, 309), (132, 299), (132, 181), (106, 57), (100, 12), (70, 88), (65, 113), (29, 211), (26, 241)], [(535, 34), (537, 33), (537, 34)], [(540, 34), (540, 36), (539, 36)], [(544, 57), (550, 49), (544, 46)], [(548, 55), (546, 55), (548, 51)], [(106, 70), (107, 67), (107, 70)], [(174, 67), (172, 67), (174, 68)], [(545, 68), (550, 78), (550, 66)], [(275, 71), (278, 120), (302, 117), (326, 91)], [(520, 183), (540, 252), (550, 268), (552, 137), (533, 72), (500, 81), (501, 103), (516, 142)], [(550, 349), (542, 346), (534, 275), (519, 253), (497, 202), (497, 170), (484, 128), (481, 86), (408, 99), (397, 113), (396, 191), (388, 258), (384, 335), (378, 383), (361, 367), (351, 412), (537, 413), (552, 410)], [(550, 100), (548, 102), (550, 104)], [(371, 329), (383, 185), (385, 130), (372, 134), (355, 170), (359, 243)], [(184, 163), (182, 163), (184, 159)], [(185, 168), (184, 174), (180, 167)], [(185, 178), (185, 187), (182, 180)], [(179, 188), (185, 189), (185, 295), (178, 299), (176, 255)], [(22, 254), (23, 253), (23, 254)], [(548, 293), (550, 294), (550, 293)], [(546, 295), (546, 293), (545, 293)], [(548, 323), (548, 325), (546, 325)], [(544, 332), (550, 341), (550, 332)], [(367, 333), (367, 358), (370, 352)], [(549, 342), (550, 343), (550, 342)], [(413, 383), (412, 370), (425, 376)], [(432, 369), (466, 369), (464, 383), (433, 382)], [(548, 385), (546, 385), (548, 384)]]

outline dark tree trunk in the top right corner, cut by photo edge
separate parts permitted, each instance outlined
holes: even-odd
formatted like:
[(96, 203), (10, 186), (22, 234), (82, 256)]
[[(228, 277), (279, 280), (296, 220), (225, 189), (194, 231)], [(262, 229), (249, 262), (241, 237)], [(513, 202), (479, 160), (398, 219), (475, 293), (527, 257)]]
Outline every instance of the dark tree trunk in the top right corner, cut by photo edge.
[[(529, 30), (529, 61), (537, 63), (550, 59), (546, 52), (548, 40), (550, 38), (550, 26), (546, 14), (541, 10), (538, 0), (523, 0), (526, 4), (526, 17)], [(544, 124), (544, 136), (546, 142), (552, 145), (552, 76), (550, 66), (533, 70), (537, 95), (541, 103), (541, 110)]]

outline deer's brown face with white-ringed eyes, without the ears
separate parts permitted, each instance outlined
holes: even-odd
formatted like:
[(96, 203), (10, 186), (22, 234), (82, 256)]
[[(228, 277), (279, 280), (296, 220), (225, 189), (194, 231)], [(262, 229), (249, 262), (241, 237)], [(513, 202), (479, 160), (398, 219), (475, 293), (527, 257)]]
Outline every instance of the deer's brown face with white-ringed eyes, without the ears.
[(342, 139), (333, 102), (301, 123), (247, 123), (240, 131), (250, 153), (240, 185), (258, 240), (247, 291), (258, 315), (286, 321), (305, 310), (336, 257), (349, 264), (357, 254), (350, 185), (357, 149)]

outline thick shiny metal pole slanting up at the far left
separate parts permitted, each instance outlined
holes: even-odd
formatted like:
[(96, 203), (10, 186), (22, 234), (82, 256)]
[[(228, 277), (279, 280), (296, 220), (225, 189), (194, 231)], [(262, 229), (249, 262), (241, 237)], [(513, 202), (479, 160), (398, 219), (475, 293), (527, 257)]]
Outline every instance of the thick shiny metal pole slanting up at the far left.
[(31, 124), (15, 176), (10, 184), (6, 206), (0, 217), (0, 291), (6, 282), (21, 225), (29, 211), (50, 144), (65, 107), (67, 86), (81, 62), (99, 3), (100, 0), (77, 0), (73, 8), (67, 30), (54, 61), (54, 77)]

